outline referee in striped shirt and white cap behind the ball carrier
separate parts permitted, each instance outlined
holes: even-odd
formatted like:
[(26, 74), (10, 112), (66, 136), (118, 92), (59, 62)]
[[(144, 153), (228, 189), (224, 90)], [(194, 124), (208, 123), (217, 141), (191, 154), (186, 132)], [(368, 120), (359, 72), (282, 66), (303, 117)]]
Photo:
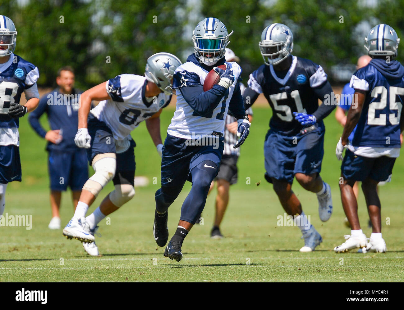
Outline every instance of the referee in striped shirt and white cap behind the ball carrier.
[[(234, 54), (230, 48), (226, 48), (225, 58), (227, 62), (230, 61), (240, 61), (240, 59)], [(241, 94), (243, 94), (246, 87), (240, 82)], [(249, 108), (247, 111), (248, 120), (252, 121), (252, 109)], [(221, 239), (223, 235), (220, 232), (220, 223), (225, 215), (227, 204), (229, 203), (229, 188), (230, 185), (237, 183), (237, 160), (240, 156), (240, 148), (234, 149), (233, 145), (236, 144), (237, 137), (237, 119), (234, 116), (228, 115), (226, 117), (225, 125), (225, 147), (223, 150), (223, 157), (220, 163), (220, 170), (216, 178), (210, 184), (210, 191), (215, 186), (215, 181), (217, 183), (217, 196), (216, 196), (216, 212), (215, 212), (215, 222), (213, 223), (213, 228), (210, 232), (210, 237), (213, 239)]]

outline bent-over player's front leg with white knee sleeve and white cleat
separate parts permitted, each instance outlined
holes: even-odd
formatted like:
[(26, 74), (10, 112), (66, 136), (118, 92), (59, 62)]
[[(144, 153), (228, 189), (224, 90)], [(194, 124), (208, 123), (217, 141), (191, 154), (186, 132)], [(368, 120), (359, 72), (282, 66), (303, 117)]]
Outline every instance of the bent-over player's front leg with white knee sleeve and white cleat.
[(94, 236), (83, 227), (88, 207), (95, 201), (103, 187), (114, 178), (116, 171), (115, 139), (105, 123), (91, 115), (88, 117), (88, 133), (91, 147), (87, 149), (88, 161), (95, 173), (85, 183), (80, 194), (73, 218), (63, 229), (68, 239), (75, 238), (82, 242), (93, 242)]

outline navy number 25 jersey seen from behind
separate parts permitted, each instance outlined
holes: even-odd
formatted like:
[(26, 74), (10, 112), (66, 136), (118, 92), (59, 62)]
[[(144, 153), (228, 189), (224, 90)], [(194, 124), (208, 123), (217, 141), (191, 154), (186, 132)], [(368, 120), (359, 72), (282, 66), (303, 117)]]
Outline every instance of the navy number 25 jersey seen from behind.
[(353, 73), (350, 86), (366, 91), (353, 136), (355, 147), (399, 148), (404, 99), (404, 67), (398, 61), (373, 59)]

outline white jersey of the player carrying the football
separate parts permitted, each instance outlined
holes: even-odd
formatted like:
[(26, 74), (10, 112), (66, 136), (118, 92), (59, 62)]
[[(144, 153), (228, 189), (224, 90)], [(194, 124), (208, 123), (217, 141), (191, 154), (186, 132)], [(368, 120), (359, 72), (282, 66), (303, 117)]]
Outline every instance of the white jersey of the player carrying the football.
[(223, 134), (231, 96), (233, 96), (241, 73), (241, 68), (237, 63), (231, 62), (231, 67), (234, 71), (234, 82), (219, 105), (213, 110), (211, 117), (196, 115), (179, 90), (183, 86), (203, 85), (209, 72), (191, 61), (182, 64), (175, 70), (173, 88), (177, 89), (177, 105), (171, 124), (168, 126), (168, 134), (185, 139), (194, 138), (193, 135), (211, 137), (213, 132)]

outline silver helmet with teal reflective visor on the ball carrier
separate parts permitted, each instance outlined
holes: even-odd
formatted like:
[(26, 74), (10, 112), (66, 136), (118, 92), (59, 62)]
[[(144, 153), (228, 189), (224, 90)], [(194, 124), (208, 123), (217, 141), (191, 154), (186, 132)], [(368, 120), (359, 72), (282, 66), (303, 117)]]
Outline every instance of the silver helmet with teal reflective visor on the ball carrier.
[(231, 34), (233, 31), (228, 34), (226, 26), (217, 18), (200, 21), (192, 34), (196, 58), (208, 66), (217, 63), (225, 55)]

